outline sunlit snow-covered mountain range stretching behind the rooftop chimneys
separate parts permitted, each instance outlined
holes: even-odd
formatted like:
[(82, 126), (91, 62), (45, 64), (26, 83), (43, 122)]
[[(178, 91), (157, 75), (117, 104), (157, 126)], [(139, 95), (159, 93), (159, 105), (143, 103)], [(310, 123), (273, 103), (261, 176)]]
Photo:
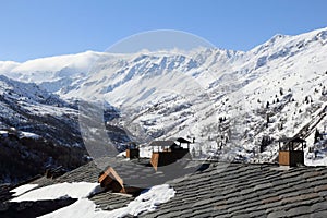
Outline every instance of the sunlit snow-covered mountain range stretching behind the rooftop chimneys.
[(246, 52), (87, 51), (0, 62), (2, 74), (64, 99), (105, 100), (120, 111), (107, 128), (122, 128), (134, 140), (196, 137), (201, 153), (264, 161), (276, 158), (279, 137), (302, 134), (313, 146), (313, 130), (326, 132), (326, 71), (327, 28), (276, 35)]

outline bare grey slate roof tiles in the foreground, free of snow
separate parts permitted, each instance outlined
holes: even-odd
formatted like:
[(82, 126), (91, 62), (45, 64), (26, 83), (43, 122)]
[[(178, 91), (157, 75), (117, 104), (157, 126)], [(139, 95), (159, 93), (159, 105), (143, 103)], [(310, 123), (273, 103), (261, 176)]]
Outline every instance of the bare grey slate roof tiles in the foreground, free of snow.
[[(140, 217), (327, 217), (327, 167), (217, 162), (206, 167), (168, 181), (175, 196)], [(100, 171), (89, 162), (55, 180), (34, 183), (96, 182)], [(105, 192), (90, 199), (111, 210), (134, 197)]]

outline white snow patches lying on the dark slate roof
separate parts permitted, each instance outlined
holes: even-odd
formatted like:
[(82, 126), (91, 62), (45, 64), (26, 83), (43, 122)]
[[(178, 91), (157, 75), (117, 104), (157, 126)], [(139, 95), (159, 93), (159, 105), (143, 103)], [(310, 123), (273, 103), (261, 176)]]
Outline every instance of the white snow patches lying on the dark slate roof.
[(170, 198), (174, 197), (175, 194), (175, 191), (172, 187), (170, 187), (169, 184), (156, 185), (149, 190), (144, 191), (138, 197), (130, 202), (128, 206), (107, 211), (97, 208), (96, 204), (93, 201), (88, 199), (90, 195), (102, 191), (102, 189), (99, 186), (99, 183), (64, 182), (32, 190), (36, 186), (38, 186), (38, 184), (26, 184), (12, 190), (11, 192), (15, 192), (14, 196), (20, 196), (11, 199), (10, 202), (36, 202), (43, 199), (58, 199), (64, 197), (77, 198), (77, 201), (71, 204), (70, 206), (60, 208), (50, 214), (46, 214), (41, 216), (43, 218), (102, 218), (123, 217), (129, 214), (137, 216), (144, 211), (155, 210), (159, 204), (167, 203), (168, 201), (170, 201)]

